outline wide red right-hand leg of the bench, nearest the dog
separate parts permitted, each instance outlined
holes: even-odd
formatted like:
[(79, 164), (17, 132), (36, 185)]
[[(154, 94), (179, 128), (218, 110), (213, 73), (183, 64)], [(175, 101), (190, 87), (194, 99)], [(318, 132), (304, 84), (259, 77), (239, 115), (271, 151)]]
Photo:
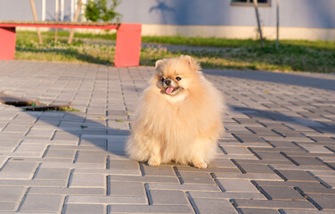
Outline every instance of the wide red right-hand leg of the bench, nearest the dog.
[(141, 29), (141, 24), (120, 24), (117, 32), (115, 67), (140, 64)]

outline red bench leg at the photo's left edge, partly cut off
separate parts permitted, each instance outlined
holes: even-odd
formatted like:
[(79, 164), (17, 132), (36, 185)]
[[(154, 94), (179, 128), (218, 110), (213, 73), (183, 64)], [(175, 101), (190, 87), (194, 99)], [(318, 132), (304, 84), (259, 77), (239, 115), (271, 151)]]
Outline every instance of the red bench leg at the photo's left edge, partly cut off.
[(13, 60), (16, 43), (15, 28), (0, 28), (0, 60)]

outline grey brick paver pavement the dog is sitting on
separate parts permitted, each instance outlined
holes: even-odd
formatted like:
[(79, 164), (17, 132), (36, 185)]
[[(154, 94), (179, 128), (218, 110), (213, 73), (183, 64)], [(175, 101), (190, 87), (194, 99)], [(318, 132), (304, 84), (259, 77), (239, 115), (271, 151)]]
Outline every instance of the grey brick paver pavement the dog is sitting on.
[(129, 161), (152, 67), (0, 62), (0, 91), (80, 111), (0, 104), (0, 213), (335, 213), (335, 76), (204, 70), (225, 95), (208, 169)]

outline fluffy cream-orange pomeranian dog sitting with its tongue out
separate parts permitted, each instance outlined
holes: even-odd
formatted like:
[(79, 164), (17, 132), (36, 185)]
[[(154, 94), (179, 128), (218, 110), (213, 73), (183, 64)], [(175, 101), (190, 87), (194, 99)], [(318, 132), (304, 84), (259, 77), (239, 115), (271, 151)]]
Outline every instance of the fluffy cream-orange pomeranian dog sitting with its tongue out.
[(150, 166), (174, 161), (206, 169), (223, 134), (224, 101), (191, 56), (156, 62), (126, 150)]

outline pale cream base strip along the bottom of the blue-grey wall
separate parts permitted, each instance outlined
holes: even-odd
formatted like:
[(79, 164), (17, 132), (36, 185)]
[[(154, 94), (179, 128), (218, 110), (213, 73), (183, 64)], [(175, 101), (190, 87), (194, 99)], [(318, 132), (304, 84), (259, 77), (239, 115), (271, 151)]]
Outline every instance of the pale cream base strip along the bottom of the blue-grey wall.
[[(18, 30), (35, 30), (33, 28), (18, 28)], [(43, 28), (42, 31), (50, 29)], [(263, 27), (266, 39), (275, 39), (274, 27)], [(106, 34), (115, 30), (103, 29), (76, 29), (76, 32)], [(205, 25), (152, 25), (143, 24), (142, 36), (183, 36), (183, 37), (225, 37), (241, 39), (257, 39), (258, 31), (255, 27), (241, 26), (205, 26)], [(312, 28), (280, 28), (280, 39), (305, 39), (335, 41), (335, 29)]]

